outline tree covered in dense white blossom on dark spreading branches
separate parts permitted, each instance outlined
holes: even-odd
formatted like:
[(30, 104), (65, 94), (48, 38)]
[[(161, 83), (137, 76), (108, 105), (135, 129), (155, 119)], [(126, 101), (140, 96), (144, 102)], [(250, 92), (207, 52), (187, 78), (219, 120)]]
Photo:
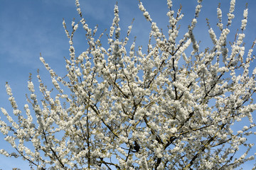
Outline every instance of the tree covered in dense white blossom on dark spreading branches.
[[(139, 2), (151, 24), (143, 52), (135, 42), (127, 48), (132, 26), (120, 40), (117, 5), (105, 47), (100, 42), (103, 34), (95, 38), (97, 28), (89, 28), (76, 0), (88, 48), (75, 55), (73, 35), (78, 24), (73, 21), (69, 33), (63, 21), (70, 43), (65, 77), (40, 57), (55, 92), (38, 74), (43, 95), (38, 101), (30, 77), (31, 94), (22, 112), (6, 84), (14, 116), (1, 108), (9, 122), (0, 120), (0, 130), (16, 152), (0, 149), (0, 153), (23, 157), (37, 169), (234, 169), (254, 159), (247, 136), (255, 127), (251, 113), (256, 109), (252, 101), (256, 69), (250, 69), (255, 42), (245, 54), (247, 8), (240, 32), (229, 45), (235, 1), (230, 1), (225, 25), (219, 6), (219, 38), (208, 24), (213, 46), (201, 51), (193, 35), (201, 2), (181, 40), (177, 27), (183, 18), (181, 8), (175, 13), (167, 0), (166, 36)], [(242, 118), (250, 124), (233, 132)], [(241, 154), (240, 147), (247, 149)]]

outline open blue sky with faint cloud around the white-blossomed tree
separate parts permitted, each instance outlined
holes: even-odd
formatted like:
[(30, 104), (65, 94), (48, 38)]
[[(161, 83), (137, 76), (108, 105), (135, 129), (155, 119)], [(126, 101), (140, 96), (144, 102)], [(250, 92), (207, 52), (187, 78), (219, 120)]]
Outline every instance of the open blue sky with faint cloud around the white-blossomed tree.
[[(48, 72), (39, 60), (40, 52), (46, 62), (50, 64), (50, 67), (55, 69), (58, 74), (64, 75), (65, 60), (63, 60), (63, 57), (69, 57), (69, 44), (63, 30), (63, 18), (70, 26), (73, 18), (78, 22), (80, 17), (76, 11), (75, 0), (0, 0), (0, 2), (0, 107), (6, 108), (11, 113), (12, 109), (5, 92), (5, 82), (8, 81), (11, 85), (18, 106), (22, 109), (26, 100), (25, 94), (28, 93), (28, 73), (33, 74), (35, 82), (37, 81), (37, 69), (41, 70), (41, 75), (46, 82), (49, 78)], [(158, 23), (160, 28), (166, 30), (168, 24), (166, 1), (142, 0), (142, 2), (153, 21)], [(205, 19), (209, 18), (210, 25), (214, 30), (217, 30), (215, 23), (217, 22), (216, 8), (218, 2), (203, 1), (203, 8), (195, 29), (196, 38), (198, 41), (202, 41), (202, 47), (211, 45)], [(220, 2), (225, 23), (229, 1)], [(235, 33), (235, 30), (240, 28), (242, 11), (246, 2), (249, 6), (249, 16), (245, 30), (245, 42), (249, 47), (256, 38), (256, 1), (237, 0), (235, 6), (236, 17), (231, 31)], [(116, 0), (80, 0), (82, 13), (90, 28), (98, 24), (99, 33), (105, 28), (108, 29), (106, 33), (109, 33), (114, 17), (115, 3)], [(132, 18), (135, 18), (130, 40), (132, 41), (132, 37), (137, 36), (137, 45), (146, 47), (150, 25), (149, 22), (145, 21), (142, 12), (139, 11), (138, 1), (119, 1), (118, 4), (123, 36), (126, 35), (127, 27), (132, 22)], [(194, 16), (196, 0), (176, 0), (174, 3), (175, 11), (177, 11), (179, 4), (182, 4), (185, 15), (180, 22), (181, 33), (184, 33), (189, 21)], [(78, 33), (75, 34), (74, 43), (77, 54), (86, 50), (84, 33), (82, 27), (80, 27)], [(103, 38), (106, 38), (106, 36), (103, 36)], [(2, 135), (0, 135), (0, 146), (11, 149), (3, 140)], [(11, 169), (13, 167), (28, 169), (28, 164), (23, 162), (22, 159), (6, 158), (0, 155), (0, 169)]]

